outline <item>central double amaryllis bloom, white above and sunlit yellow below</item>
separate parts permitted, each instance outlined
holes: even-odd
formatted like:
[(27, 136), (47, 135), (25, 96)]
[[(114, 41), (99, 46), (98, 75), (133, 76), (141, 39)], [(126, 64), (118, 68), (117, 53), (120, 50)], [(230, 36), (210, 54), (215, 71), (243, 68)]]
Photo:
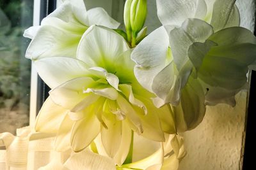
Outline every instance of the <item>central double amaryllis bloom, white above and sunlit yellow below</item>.
[(172, 110), (154, 106), (154, 95), (134, 76), (130, 55), (122, 36), (93, 25), (81, 38), (76, 59), (34, 60), (52, 89), (36, 119), (36, 131), (57, 133), (57, 150), (71, 145), (75, 152), (100, 132), (106, 152), (119, 164), (129, 152), (132, 131), (154, 141), (164, 141), (164, 132), (175, 133)]

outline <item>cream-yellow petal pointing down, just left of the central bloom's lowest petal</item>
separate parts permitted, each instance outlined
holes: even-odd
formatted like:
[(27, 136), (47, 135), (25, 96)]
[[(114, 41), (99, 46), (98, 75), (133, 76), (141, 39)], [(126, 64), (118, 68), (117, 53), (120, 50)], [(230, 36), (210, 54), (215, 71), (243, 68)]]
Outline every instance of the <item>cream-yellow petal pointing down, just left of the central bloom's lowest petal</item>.
[(88, 114), (83, 120), (75, 122), (71, 134), (71, 146), (74, 152), (80, 152), (90, 145), (99, 132), (100, 122), (94, 114)]

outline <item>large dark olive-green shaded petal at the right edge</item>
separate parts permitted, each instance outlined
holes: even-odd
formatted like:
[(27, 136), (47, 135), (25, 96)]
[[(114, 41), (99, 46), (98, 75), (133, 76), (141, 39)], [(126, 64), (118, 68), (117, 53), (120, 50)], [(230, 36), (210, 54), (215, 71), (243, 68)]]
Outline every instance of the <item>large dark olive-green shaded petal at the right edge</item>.
[(252, 32), (242, 27), (230, 27), (216, 32), (209, 41), (216, 45), (206, 50), (207, 45), (194, 44), (189, 48), (191, 62), (198, 65), (198, 59), (201, 60), (198, 78), (212, 87), (229, 90), (243, 87), (248, 66), (255, 61), (256, 38)]

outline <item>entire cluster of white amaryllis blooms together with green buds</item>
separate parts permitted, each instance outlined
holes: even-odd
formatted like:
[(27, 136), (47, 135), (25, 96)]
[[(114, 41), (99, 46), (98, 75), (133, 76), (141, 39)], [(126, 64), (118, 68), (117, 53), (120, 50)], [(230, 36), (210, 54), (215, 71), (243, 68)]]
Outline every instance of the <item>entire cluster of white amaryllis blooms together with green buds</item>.
[[(90, 160), (81, 169), (104, 168), (95, 157), (108, 169), (177, 169), (185, 154), (177, 133), (202, 122), (205, 104), (234, 106), (256, 60), (234, 3), (157, 0), (163, 26), (146, 36), (146, 0), (126, 1), (126, 32), (102, 8), (64, 1), (24, 32), (26, 57), (51, 87), (36, 131), (56, 134), (57, 151), (79, 152), (69, 169), (81, 158)], [(136, 162), (139, 138), (157, 150)]]

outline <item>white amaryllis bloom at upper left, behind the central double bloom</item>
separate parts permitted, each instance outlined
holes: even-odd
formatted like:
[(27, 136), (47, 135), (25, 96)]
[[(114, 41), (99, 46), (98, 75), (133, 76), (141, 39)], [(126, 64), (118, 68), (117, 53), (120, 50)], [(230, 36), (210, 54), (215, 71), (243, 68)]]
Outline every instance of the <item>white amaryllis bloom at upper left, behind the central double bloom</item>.
[(117, 29), (119, 23), (103, 8), (86, 11), (83, 0), (66, 0), (45, 17), (40, 26), (24, 32), (25, 37), (32, 39), (25, 56), (33, 60), (54, 56), (75, 58), (77, 45), (90, 25)]

